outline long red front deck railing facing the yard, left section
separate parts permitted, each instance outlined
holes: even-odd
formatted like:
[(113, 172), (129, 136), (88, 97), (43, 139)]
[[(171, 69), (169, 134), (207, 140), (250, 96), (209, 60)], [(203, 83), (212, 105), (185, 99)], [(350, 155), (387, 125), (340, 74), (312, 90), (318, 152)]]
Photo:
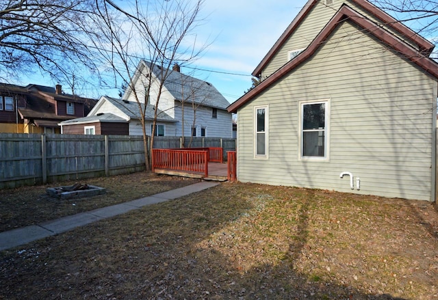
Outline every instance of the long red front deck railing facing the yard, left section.
[(170, 169), (208, 176), (208, 151), (192, 149), (153, 149), (152, 172)]

